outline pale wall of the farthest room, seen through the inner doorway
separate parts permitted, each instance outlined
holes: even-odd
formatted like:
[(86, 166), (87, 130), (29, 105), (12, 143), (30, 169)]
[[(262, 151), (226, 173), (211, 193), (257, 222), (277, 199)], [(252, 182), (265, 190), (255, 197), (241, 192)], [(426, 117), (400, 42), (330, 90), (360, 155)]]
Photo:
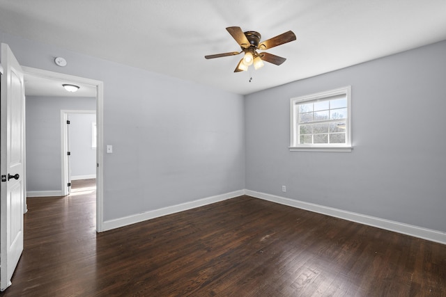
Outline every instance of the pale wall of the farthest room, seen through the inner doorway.
[(96, 114), (69, 113), (68, 120), (71, 179), (91, 178), (96, 175), (96, 149), (91, 147), (91, 123), (96, 122)]

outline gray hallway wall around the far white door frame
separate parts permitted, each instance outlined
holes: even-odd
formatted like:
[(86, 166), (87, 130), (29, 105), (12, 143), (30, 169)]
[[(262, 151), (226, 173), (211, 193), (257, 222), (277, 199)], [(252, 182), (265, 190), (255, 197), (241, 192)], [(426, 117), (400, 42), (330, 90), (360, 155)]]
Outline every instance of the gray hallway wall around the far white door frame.
[(95, 110), (94, 98), (26, 96), (26, 191), (61, 191), (61, 110)]

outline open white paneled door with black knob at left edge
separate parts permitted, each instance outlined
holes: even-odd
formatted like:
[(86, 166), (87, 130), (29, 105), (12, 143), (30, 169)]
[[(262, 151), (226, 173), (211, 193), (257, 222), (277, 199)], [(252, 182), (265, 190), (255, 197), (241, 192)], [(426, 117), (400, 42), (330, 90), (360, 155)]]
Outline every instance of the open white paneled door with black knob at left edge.
[(24, 80), (8, 45), (1, 44), (1, 232), (0, 290), (10, 286), (23, 250)]

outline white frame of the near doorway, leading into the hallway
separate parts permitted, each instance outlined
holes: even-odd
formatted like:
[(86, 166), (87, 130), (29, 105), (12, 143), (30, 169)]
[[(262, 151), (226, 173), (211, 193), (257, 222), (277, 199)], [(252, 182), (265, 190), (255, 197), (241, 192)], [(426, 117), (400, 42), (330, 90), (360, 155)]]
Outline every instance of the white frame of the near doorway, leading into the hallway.
[(30, 74), (36, 77), (54, 79), (59, 81), (72, 81), (74, 83), (86, 83), (96, 87), (96, 127), (97, 127), (97, 148), (96, 148), (96, 232), (102, 232), (104, 223), (104, 154), (103, 154), (103, 121), (104, 121), (104, 83), (95, 79), (85, 77), (75, 77), (69, 74), (41, 70), (33, 67), (22, 66), (24, 74)]

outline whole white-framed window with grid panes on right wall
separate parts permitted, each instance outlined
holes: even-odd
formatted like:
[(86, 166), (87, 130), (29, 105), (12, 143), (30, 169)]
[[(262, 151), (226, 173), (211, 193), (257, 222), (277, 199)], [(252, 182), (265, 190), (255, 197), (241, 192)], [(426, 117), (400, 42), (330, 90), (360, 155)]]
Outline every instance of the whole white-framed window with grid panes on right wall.
[(290, 150), (351, 152), (351, 86), (291, 98)]

